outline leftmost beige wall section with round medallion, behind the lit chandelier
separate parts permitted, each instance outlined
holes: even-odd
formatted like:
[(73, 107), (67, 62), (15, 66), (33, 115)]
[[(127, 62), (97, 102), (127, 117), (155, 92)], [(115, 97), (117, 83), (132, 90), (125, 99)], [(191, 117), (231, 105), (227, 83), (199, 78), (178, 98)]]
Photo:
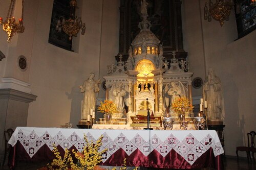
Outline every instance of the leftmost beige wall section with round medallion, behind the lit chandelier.
[[(4, 16), (3, 19), (5, 20), (7, 11), (6, 9), (9, 8), (9, 1), (4, 1), (8, 2), (5, 7), (1, 6), (1, 12), (2, 8), (4, 9)], [(16, 1), (15, 9), (14, 9), (14, 17), (16, 20), (20, 18), (22, 15), (22, 0)], [(33, 47), (33, 37), (34, 37), (34, 28), (35, 28), (35, 22), (36, 22), (36, 15), (31, 15), (31, 14), (36, 14), (37, 13), (37, 6), (38, 6), (38, 1), (26, 1), (24, 3), (24, 9), (26, 9), (24, 12), (24, 26), (25, 26), (25, 32), (22, 34), (14, 34), (14, 36), (11, 38), (11, 42), (7, 42), (7, 34), (1, 30), (1, 47), (0, 50), (6, 55), (6, 58), (1, 62), (1, 78), (3, 77), (13, 77), (18, 80), (22, 80), (24, 82), (29, 81), (29, 71), (30, 69), (26, 69), (25, 71), (22, 71), (18, 67), (18, 57), (20, 55), (23, 55), (26, 57), (28, 64), (30, 64), (31, 60), (31, 52), (32, 52), (32, 47)], [(31, 8), (34, 7), (34, 8)], [(4, 33), (4, 34), (3, 34)], [(26, 41), (26, 43), (24, 43)], [(2, 65), (3, 64), (3, 65)], [(3, 67), (2, 67), (3, 66)]]

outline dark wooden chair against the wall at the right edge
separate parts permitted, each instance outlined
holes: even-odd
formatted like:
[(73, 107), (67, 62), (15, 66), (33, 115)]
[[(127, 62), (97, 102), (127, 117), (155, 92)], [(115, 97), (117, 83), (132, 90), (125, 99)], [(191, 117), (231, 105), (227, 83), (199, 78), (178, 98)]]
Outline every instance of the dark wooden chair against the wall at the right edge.
[[(245, 151), (247, 154), (247, 159), (249, 158), (251, 161), (251, 155), (252, 155), (252, 158), (254, 160), (254, 153), (256, 152), (256, 148), (254, 148), (255, 135), (256, 133), (254, 131), (247, 133), (248, 147), (237, 147), (237, 152), (236, 152), (237, 158), (238, 158), (238, 151)], [(251, 155), (250, 155), (250, 152), (252, 152)]]

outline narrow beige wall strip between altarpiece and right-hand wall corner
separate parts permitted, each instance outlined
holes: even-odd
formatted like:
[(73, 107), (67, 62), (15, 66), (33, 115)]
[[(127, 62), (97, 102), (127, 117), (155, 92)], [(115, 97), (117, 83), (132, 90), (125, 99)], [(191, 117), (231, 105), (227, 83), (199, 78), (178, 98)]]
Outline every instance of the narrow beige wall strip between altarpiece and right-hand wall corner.
[[(193, 4), (193, 5), (191, 5)], [(200, 18), (200, 1), (182, 1), (182, 28), (184, 50), (188, 52), (189, 71), (194, 72), (191, 77), (205, 78), (205, 54)], [(202, 95), (202, 87), (192, 88), (193, 96)]]

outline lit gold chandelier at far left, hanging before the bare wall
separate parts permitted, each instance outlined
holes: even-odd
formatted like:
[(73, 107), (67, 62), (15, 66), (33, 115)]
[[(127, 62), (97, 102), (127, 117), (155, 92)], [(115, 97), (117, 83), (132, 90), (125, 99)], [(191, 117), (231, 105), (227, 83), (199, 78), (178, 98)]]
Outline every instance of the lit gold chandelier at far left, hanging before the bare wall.
[(6, 17), (6, 20), (3, 21), (3, 18), (0, 17), (0, 24), (3, 26), (3, 30), (8, 35), (7, 42), (11, 42), (11, 38), (16, 33), (23, 33), (24, 32), (24, 26), (23, 26), (23, 4), (24, 0), (22, 1), (22, 17), (18, 19), (18, 22), (16, 22), (14, 16), (13, 16), (13, 9), (15, 7), (16, 0), (11, 0), (11, 4), (8, 10), (8, 14)]

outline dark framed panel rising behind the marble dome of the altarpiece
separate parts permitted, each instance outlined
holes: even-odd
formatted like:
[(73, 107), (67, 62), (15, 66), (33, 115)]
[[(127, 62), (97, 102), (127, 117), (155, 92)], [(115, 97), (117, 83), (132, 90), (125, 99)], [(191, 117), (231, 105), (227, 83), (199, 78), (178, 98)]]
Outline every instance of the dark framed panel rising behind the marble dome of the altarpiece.
[[(141, 0), (120, 1), (119, 54), (127, 60), (129, 47), (139, 33), (138, 24), (142, 20), (139, 13)], [(169, 60), (172, 52), (176, 58), (185, 59), (187, 52), (183, 49), (183, 34), (180, 0), (147, 0), (148, 20), (151, 31), (163, 42), (163, 56)], [(119, 61), (119, 54), (116, 60)]]

